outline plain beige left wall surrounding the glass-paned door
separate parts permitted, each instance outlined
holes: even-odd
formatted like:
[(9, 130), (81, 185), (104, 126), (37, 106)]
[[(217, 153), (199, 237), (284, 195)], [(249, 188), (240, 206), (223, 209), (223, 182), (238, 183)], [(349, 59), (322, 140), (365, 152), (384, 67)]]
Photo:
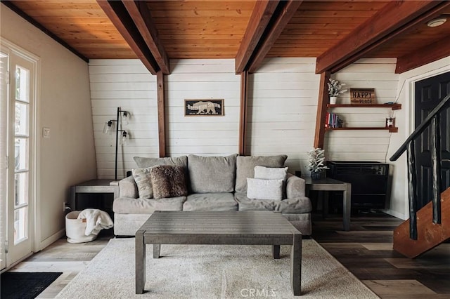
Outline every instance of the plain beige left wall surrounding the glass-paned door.
[[(70, 185), (96, 178), (88, 66), (3, 4), (0, 13), (1, 37), (40, 58), (37, 237), (42, 247), (63, 234)], [(51, 138), (42, 138), (43, 127), (51, 128)]]

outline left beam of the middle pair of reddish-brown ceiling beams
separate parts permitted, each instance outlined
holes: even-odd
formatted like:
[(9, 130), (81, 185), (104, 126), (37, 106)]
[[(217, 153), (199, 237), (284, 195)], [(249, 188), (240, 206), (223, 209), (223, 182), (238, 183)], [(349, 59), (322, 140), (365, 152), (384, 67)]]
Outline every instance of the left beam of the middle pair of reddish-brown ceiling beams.
[(253, 51), (257, 47), (259, 39), (266, 29), (276, 6), (280, 1), (257, 1), (253, 8), (252, 15), (248, 21), (247, 29), (240, 42), (238, 53), (236, 54), (236, 74), (240, 74), (247, 67), (248, 61)]

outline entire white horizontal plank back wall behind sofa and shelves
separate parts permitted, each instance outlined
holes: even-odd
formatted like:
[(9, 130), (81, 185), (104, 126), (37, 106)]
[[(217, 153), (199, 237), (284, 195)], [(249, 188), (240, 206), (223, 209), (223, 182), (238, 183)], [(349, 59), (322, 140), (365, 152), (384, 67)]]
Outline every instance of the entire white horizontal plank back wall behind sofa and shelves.
[[(165, 77), (167, 156), (203, 156), (238, 152), (240, 76), (234, 60), (171, 60)], [(394, 101), (395, 60), (359, 60), (333, 78), (347, 88), (375, 88), (378, 102)], [(131, 112), (128, 145), (119, 154), (119, 178), (136, 167), (134, 156), (158, 157), (156, 77), (139, 60), (91, 60), (91, 103), (98, 178), (114, 177), (114, 136), (102, 134), (117, 107)], [(314, 58), (269, 58), (249, 77), (246, 154), (287, 154), (290, 172), (307, 174), (307, 154), (314, 144), (319, 74)], [(224, 99), (224, 117), (184, 117), (185, 99)], [(349, 93), (340, 102), (349, 103)], [(392, 113), (383, 108), (338, 108), (348, 126), (384, 126)], [(392, 133), (395, 134), (395, 133)], [(327, 159), (386, 161), (387, 131), (326, 133)], [(123, 154), (121, 154), (123, 152)], [(121, 161), (124, 161), (123, 163)]]

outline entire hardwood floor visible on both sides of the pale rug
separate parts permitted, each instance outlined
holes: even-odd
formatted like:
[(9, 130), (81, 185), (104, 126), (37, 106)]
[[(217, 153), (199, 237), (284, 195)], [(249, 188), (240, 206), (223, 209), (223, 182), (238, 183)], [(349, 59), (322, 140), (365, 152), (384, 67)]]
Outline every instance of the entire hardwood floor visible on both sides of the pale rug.
[[(381, 298), (450, 298), (450, 244), (410, 260), (392, 250), (392, 230), (402, 221), (375, 213), (352, 215), (351, 231), (342, 215), (313, 215), (313, 238)], [(110, 230), (111, 231), (111, 230)], [(108, 243), (112, 232), (95, 241), (69, 244), (60, 239), (12, 271), (63, 272), (38, 298), (53, 298)]]

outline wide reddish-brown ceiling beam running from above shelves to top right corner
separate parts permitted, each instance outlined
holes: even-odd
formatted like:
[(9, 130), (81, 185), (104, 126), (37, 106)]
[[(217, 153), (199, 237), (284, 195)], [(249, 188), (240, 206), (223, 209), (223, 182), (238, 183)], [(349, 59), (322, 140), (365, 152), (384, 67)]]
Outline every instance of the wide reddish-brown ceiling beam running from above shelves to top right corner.
[[(445, 3), (446, 2), (446, 3)], [(316, 60), (316, 74), (350, 65), (386, 41), (432, 15), (450, 1), (391, 1)], [(421, 17), (421, 18), (419, 18)]]

